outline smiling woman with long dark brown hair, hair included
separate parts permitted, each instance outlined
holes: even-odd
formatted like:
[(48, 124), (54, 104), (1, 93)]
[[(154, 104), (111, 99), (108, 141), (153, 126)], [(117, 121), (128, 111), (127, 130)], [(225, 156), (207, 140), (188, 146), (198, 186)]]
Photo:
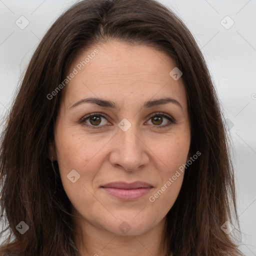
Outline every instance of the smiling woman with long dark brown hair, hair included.
[(15, 237), (0, 255), (242, 255), (215, 89), (188, 29), (154, 0), (84, 0), (55, 21), (0, 159)]

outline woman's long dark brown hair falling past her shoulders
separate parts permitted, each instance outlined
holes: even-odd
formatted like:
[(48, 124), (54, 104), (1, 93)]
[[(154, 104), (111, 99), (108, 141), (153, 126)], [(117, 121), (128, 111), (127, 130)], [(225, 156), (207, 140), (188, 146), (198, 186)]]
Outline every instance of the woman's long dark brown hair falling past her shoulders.
[[(1, 135), (0, 206), (6, 228), (0, 234), (9, 235), (0, 255), (77, 255), (71, 203), (57, 162), (52, 166), (48, 158), (62, 90), (51, 99), (47, 95), (65, 79), (80, 50), (108, 39), (153, 45), (183, 73), (191, 122), (189, 152), (201, 155), (184, 172), (167, 213), (166, 255), (242, 255), (232, 233), (221, 229), (227, 220), (234, 225), (232, 218), (238, 221), (227, 131), (213, 82), (191, 33), (155, 0), (79, 1), (42, 38)], [(16, 228), (20, 221), (29, 227), (23, 234)]]

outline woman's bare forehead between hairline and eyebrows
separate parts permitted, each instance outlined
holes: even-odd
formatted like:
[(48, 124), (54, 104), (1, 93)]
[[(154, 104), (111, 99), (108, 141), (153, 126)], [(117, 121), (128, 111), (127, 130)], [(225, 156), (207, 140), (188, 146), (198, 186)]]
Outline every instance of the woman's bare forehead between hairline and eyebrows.
[[(95, 53), (96, 52), (96, 53)], [(65, 87), (67, 104), (83, 96), (100, 96), (122, 101), (141, 96), (176, 96), (185, 101), (181, 79), (169, 72), (175, 62), (165, 53), (146, 45), (119, 41), (97, 44), (79, 52), (67, 75), (76, 74)]]

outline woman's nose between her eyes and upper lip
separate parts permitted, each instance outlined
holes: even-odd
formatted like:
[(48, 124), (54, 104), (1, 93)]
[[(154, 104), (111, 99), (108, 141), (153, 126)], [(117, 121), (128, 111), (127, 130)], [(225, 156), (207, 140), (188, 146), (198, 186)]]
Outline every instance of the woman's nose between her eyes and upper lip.
[(147, 165), (148, 148), (135, 124), (126, 131), (118, 127), (111, 143), (109, 161), (115, 168), (132, 171)]

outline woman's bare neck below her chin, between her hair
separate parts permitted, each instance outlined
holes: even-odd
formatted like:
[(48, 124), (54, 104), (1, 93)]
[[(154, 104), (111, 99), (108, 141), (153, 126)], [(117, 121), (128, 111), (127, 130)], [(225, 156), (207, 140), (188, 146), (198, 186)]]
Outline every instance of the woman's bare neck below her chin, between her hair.
[(73, 218), (73, 224), (74, 243), (80, 256), (166, 255), (167, 246), (161, 243), (165, 217), (152, 229), (139, 235), (118, 235), (89, 223), (81, 216)]

